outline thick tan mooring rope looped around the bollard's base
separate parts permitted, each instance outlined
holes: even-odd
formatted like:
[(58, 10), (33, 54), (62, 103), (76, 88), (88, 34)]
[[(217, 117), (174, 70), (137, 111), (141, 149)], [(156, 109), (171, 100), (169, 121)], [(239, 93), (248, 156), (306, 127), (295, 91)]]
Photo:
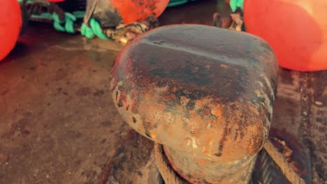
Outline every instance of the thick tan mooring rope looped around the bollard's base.
[[(305, 184), (303, 178), (300, 178), (296, 171), (292, 169), (289, 163), (286, 161), (282, 153), (277, 151), (277, 148), (273, 145), (273, 143), (268, 140), (263, 148), (267, 151), (268, 155), (273, 158), (274, 162), (278, 165), (284, 176), (292, 183), (292, 184)], [(163, 148), (161, 144), (154, 145), (154, 153), (156, 155), (157, 167), (163, 178), (163, 181), (167, 184), (187, 184), (189, 182), (185, 181), (183, 178), (178, 176), (175, 170), (170, 166), (168, 159), (166, 158), (165, 153), (163, 153)]]

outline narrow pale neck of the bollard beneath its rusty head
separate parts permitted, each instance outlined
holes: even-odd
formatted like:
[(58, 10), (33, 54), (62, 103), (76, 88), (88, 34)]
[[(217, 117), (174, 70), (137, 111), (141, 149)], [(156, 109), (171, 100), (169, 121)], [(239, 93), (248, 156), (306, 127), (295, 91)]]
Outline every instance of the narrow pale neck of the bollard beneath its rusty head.
[(256, 155), (226, 162), (221, 158), (201, 158), (168, 146), (163, 151), (171, 167), (190, 183), (249, 183)]

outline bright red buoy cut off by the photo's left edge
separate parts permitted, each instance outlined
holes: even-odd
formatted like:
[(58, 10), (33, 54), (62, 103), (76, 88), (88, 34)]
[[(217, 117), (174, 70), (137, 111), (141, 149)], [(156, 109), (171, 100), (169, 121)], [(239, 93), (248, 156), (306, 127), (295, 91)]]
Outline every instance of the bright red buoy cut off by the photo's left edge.
[(22, 13), (17, 0), (1, 1), (0, 6), (0, 61), (15, 47), (22, 27)]

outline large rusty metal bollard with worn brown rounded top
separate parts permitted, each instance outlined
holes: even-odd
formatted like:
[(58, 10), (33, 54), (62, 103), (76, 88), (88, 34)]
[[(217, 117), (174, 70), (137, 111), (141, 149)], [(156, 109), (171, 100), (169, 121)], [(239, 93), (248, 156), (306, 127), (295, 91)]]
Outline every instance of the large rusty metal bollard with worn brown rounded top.
[(277, 61), (261, 38), (213, 26), (149, 31), (120, 52), (112, 98), (190, 183), (248, 183), (273, 116)]

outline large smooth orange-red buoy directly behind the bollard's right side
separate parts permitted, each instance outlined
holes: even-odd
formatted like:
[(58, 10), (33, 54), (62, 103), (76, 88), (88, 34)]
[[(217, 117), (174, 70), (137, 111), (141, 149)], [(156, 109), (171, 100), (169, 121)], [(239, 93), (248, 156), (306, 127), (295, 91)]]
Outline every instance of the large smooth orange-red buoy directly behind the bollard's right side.
[(246, 0), (243, 8), (247, 32), (273, 47), (279, 66), (327, 69), (326, 0)]

